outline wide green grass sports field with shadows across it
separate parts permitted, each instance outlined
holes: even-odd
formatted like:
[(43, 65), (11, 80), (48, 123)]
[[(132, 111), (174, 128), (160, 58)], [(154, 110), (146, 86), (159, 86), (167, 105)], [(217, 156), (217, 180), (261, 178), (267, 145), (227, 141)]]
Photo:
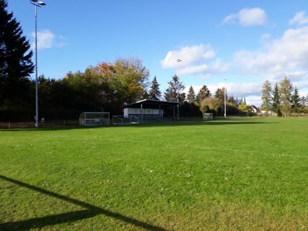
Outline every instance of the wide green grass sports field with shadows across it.
[(308, 119), (0, 131), (0, 230), (308, 230)]

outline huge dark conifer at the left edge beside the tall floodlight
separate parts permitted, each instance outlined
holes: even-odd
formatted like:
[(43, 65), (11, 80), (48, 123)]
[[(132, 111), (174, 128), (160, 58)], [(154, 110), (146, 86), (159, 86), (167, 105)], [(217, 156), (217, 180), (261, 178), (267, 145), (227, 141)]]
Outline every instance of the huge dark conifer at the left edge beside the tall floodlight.
[(34, 69), (29, 41), (7, 7), (7, 1), (0, 0), (0, 110), (5, 104), (22, 104)]

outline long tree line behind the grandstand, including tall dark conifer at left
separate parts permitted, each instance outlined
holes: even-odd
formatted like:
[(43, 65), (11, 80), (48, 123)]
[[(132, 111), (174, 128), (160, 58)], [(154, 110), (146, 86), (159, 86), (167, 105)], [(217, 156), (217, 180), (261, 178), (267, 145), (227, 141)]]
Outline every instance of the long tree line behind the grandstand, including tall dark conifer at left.
[[(35, 81), (30, 78), (34, 70), (33, 53), (20, 23), (6, 8), (7, 1), (0, 0), (0, 118), (4, 121), (33, 120)], [(101, 62), (83, 72), (68, 72), (62, 79), (46, 78), (43, 74), (38, 77), (40, 118), (76, 119), (83, 111), (122, 114), (123, 105), (145, 98), (172, 102), (179, 98), (181, 117), (224, 113), (224, 88), (218, 88), (211, 95), (206, 85), (197, 94), (190, 86), (186, 95), (183, 82), (175, 74), (162, 93), (156, 76), (151, 82), (149, 78), (149, 70), (136, 57)], [(226, 99), (227, 113), (251, 111), (245, 99), (227, 94)]]

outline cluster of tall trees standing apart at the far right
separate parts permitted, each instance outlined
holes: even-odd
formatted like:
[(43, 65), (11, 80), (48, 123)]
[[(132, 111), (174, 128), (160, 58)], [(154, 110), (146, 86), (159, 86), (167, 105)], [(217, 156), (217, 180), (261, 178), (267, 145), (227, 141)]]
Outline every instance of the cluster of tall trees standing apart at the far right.
[(308, 94), (300, 97), (297, 87), (284, 76), (283, 80), (272, 87), (271, 82), (265, 80), (262, 85), (262, 104), (260, 109), (265, 113), (273, 111), (277, 116), (287, 116), (290, 113), (308, 113)]

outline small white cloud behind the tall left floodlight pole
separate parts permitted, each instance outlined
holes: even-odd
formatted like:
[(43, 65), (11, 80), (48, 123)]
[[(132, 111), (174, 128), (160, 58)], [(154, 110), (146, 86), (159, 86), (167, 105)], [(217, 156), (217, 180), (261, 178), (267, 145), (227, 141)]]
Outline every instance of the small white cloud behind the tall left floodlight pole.
[[(35, 39), (35, 32), (32, 32), (33, 40)], [(48, 49), (52, 47), (63, 47), (67, 45), (65, 37), (62, 35), (55, 35), (50, 30), (37, 31), (37, 49)], [(35, 47), (35, 43), (31, 44), (32, 48)]]

